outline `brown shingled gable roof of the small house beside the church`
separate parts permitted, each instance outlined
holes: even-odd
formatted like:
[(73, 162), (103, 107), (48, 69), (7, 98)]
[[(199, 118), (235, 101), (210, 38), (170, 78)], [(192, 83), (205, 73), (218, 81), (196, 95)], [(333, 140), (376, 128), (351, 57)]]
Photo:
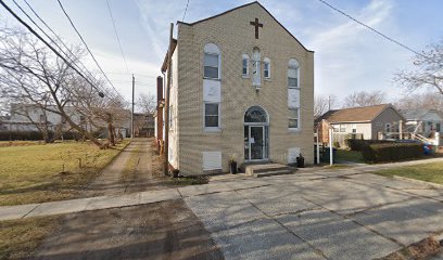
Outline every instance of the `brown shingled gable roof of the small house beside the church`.
[[(387, 108), (396, 109), (391, 104), (381, 104), (375, 106), (362, 106), (344, 109), (329, 110), (317, 118), (316, 123), (322, 119), (330, 123), (337, 122), (370, 122), (376, 119)], [(397, 112), (396, 112), (397, 113)], [(398, 113), (397, 113), (398, 114)], [(402, 117), (402, 115), (398, 114)]]

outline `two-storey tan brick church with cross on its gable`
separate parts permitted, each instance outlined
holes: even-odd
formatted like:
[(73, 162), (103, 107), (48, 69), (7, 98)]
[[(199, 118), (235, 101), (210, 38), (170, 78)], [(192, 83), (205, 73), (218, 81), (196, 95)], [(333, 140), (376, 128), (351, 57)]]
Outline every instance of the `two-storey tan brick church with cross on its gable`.
[(258, 2), (177, 24), (170, 166), (228, 172), (230, 158), (293, 164), (300, 153), (313, 164), (314, 52)]

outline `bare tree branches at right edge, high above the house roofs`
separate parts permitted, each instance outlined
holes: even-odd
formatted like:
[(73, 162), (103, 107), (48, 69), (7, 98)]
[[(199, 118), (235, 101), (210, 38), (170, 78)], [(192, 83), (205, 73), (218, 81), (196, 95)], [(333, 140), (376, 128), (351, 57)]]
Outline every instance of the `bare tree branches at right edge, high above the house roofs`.
[(414, 57), (415, 70), (401, 70), (394, 82), (409, 91), (430, 86), (443, 95), (443, 39)]

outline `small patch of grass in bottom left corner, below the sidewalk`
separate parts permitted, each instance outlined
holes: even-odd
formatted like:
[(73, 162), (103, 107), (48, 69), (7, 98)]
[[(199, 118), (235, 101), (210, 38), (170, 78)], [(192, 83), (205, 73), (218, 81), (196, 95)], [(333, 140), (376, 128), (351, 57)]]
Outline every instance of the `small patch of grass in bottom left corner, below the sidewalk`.
[(0, 221), (0, 260), (28, 259), (61, 217)]

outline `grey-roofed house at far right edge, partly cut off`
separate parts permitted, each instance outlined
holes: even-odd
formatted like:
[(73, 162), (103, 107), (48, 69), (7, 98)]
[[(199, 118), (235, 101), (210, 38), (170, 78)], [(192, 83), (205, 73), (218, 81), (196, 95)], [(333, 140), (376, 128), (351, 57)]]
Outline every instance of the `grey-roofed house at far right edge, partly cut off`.
[(406, 119), (406, 128), (409, 132), (429, 136), (431, 132), (443, 133), (443, 115), (435, 109), (404, 109), (400, 110)]

